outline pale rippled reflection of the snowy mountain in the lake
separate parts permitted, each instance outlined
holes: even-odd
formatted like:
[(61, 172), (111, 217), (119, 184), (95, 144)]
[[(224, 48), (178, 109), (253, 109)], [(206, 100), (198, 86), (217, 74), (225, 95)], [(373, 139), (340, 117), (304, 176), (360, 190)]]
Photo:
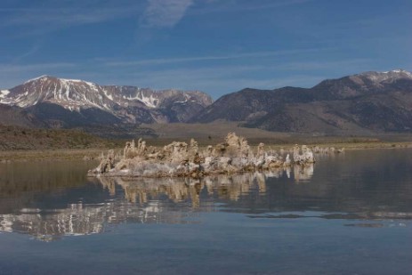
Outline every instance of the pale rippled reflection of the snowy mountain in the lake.
[(98, 205), (72, 204), (65, 209), (21, 209), (20, 214), (1, 214), (0, 231), (27, 233), (36, 239), (53, 240), (61, 236), (101, 233), (110, 224), (184, 223), (188, 215), (181, 211), (163, 211), (161, 202), (137, 206), (125, 201)]

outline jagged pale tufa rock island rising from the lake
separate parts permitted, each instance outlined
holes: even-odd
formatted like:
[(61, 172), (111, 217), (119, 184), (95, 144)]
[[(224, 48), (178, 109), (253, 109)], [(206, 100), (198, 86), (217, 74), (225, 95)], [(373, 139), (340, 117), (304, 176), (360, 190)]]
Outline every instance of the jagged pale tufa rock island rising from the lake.
[(139, 139), (137, 144), (126, 142), (117, 164), (114, 151), (110, 150), (89, 175), (198, 178), (208, 174), (281, 171), (293, 164), (306, 166), (315, 162), (313, 152), (307, 146), (295, 145), (293, 151), (293, 159), (289, 154), (283, 159), (276, 151), (265, 150), (264, 144), (260, 143), (254, 155), (246, 139), (236, 133), (228, 133), (224, 142), (209, 145), (206, 150), (199, 150), (194, 139), (189, 144), (172, 142), (160, 150), (147, 147), (146, 142)]

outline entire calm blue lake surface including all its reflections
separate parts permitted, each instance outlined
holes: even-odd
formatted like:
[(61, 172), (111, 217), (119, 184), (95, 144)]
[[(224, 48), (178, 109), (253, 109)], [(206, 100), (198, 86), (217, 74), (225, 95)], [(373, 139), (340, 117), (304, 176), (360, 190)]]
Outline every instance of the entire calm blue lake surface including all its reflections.
[(0, 274), (411, 274), (412, 150), (201, 181), (0, 164)]

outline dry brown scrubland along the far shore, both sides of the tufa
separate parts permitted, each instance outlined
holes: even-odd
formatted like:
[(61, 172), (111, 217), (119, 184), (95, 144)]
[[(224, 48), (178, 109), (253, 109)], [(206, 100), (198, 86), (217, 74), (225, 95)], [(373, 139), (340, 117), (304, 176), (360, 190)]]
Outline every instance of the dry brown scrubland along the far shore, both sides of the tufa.
[[(227, 133), (237, 133), (250, 145), (265, 143), (273, 149), (294, 144), (344, 147), (351, 149), (412, 147), (412, 133), (379, 133), (368, 136), (326, 136), (316, 133), (276, 133), (255, 128), (239, 127), (234, 122), (210, 124), (141, 125), (151, 128), (158, 137), (145, 138), (149, 146), (164, 146), (170, 142), (198, 141), (199, 147), (223, 142)], [(136, 136), (137, 140), (140, 136)], [(78, 130), (27, 129), (0, 125), (0, 161), (27, 159), (98, 158), (101, 151), (120, 151), (125, 140), (109, 140)]]

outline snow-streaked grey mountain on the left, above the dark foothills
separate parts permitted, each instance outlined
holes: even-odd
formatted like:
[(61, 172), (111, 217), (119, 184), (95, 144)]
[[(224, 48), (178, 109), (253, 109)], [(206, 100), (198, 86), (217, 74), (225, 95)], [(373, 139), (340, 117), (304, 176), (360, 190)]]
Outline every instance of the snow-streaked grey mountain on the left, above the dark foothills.
[[(50, 109), (50, 104), (80, 114), (95, 109), (126, 123), (181, 122), (212, 102), (210, 96), (198, 91), (154, 91), (50, 76), (36, 77), (12, 89), (0, 91), (2, 104), (36, 109), (36, 112)], [(50, 111), (44, 116), (53, 119)]]

